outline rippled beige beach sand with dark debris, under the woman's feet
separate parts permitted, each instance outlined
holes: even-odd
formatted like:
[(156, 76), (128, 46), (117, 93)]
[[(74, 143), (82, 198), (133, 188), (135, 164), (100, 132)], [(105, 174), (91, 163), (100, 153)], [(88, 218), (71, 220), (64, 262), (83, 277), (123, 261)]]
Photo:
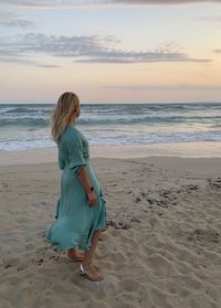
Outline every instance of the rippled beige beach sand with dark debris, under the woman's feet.
[(93, 283), (45, 241), (56, 162), (12, 156), (0, 167), (0, 307), (221, 307), (221, 158), (93, 158), (107, 202), (105, 279)]

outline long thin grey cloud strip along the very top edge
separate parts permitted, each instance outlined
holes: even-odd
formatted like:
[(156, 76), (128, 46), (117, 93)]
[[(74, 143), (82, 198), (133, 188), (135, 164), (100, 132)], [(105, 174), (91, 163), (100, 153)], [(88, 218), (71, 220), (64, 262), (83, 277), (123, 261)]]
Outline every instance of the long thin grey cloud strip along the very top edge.
[(220, 3), (221, 0), (0, 0), (0, 4), (21, 6), (27, 8), (46, 9), (61, 7), (106, 7), (106, 6), (178, 6), (191, 3)]

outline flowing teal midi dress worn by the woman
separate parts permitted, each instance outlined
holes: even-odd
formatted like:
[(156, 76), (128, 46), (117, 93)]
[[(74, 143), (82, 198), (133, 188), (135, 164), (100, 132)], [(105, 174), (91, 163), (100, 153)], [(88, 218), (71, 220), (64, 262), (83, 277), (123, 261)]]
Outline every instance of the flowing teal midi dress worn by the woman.
[[(106, 202), (90, 166), (88, 142), (74, 125), (67, 124), (57, 148), (59, 167), (63, 170), (61, 194), (56, 204), (56, 220), (48, 230), (46, 240), (62, 251), (72, 247), (88, 251), (94, 231), (106, 226)], [(77, 176), (83, 166), (97, 195), (93, 206), (88, 205), (87, 194)]]

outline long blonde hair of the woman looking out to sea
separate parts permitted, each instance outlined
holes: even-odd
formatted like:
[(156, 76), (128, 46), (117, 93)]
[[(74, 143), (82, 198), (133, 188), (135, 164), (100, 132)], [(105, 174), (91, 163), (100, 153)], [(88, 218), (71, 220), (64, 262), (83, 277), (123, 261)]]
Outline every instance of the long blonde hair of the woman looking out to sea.
[(62, 132), (64, 131), (74, 111), (76, 111), (76, 107), (78, 105), (80, 99), (77, 95), (72, 92), (65, 92), (60, 96), (51, 115), (51, 134), (55, 142), (60, 141)]

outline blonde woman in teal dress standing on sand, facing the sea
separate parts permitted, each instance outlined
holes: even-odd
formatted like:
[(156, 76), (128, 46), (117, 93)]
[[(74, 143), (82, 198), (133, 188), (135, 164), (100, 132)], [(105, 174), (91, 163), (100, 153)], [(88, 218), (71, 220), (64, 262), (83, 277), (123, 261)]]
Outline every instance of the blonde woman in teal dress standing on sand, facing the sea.
[(88, 142), (75, 127), (80, 114), (78, 97), (71, 92), (61, 95), (52, 114), (52, 137), (57, 144), (59, 167), (63, 173), (56, 221), (49, 229), (46, 238), (52, 245), (67, 251), (70, 258), (81, 261), (82, 276), (99, 282), (103, 276), (93, 265), (93, 257), (106, 225), (106, 204), (90, 166)]

